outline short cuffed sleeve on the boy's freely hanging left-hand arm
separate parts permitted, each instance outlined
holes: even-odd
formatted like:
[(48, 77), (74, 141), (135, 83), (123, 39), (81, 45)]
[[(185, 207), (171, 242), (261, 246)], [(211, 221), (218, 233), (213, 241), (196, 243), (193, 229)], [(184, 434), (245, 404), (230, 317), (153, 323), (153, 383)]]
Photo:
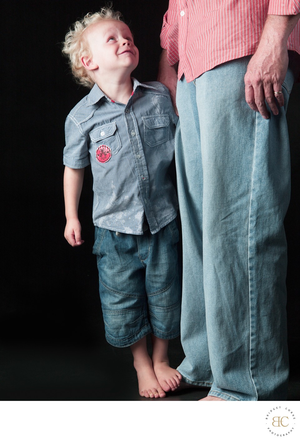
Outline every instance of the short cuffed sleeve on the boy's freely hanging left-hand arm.
[(84, 168), (90, 164), (88, 139), (79, 130), (78, 125), (70, 118), (65, 124), (66, 147), (63, 151), (63, 163), (70, 168)]

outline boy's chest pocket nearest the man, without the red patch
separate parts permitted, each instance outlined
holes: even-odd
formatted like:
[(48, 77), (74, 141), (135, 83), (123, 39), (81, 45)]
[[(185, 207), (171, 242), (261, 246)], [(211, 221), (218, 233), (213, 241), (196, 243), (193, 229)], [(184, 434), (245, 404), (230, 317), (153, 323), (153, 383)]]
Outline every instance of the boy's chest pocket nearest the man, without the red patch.
[(158, 146), (172, 138), (168, 115), (143, 116), (143, 123), (144, 139), (149, 146)]

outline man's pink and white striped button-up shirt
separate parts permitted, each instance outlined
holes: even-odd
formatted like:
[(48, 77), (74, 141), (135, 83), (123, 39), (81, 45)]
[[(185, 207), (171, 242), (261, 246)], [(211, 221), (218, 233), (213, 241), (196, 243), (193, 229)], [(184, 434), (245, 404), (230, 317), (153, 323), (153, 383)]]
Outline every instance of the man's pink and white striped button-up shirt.
[[(169, 0), (161, 47), (187, 82), (225, 61), (252, 55), (267, 15), (296, 15), (300, 0)], [(300, 54), (300, 20), (288, 49)]]

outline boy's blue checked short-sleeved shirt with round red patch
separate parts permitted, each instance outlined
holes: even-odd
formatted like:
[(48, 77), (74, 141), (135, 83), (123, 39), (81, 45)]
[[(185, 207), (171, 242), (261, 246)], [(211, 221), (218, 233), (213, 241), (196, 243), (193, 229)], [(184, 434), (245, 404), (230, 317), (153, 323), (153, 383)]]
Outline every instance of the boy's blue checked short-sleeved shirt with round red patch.
[(170, 164), (178, 117), (164, 85), (132, 81), (127, 105), (95, 84), (73, 108), (63, 161), (70, 168), (91, 164), (96, 226), (142, 235), (146, 215), (154, 234), (177, 214)]

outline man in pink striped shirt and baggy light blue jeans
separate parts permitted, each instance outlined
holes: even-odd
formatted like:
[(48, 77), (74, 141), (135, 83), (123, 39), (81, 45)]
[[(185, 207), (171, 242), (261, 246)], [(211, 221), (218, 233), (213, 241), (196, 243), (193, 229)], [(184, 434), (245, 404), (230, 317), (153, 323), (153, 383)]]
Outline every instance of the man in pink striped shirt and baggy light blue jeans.
[(204, 400), (286, 398), (285, 111), (299, 18), (299, 0), (170, 0), (164, 17), (158, 80), (179, 111), (178, 370), (211, 387)]

